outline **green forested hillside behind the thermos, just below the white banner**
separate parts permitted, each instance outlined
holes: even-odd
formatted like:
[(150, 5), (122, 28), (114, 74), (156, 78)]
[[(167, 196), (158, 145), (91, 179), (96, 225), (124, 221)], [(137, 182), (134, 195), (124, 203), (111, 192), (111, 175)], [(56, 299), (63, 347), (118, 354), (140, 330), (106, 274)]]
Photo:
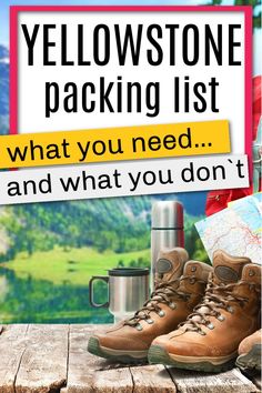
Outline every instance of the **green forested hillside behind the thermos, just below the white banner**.
[[(165, 198), (172, 200), (174, 195)], [(193, 194), (182, 199), (184, 204), (190, 203), (187, 199), (194, 203)], [(91, 246), (100, 252), (117, 253), (149, 249), (151, 206), (155, 200), (157, 196), (134, 196), (6, 206), (0, 215), (0, 228), (7, 248), (0, 259), (12, 260), (21, 251), (31, 255), (36, 251), (52, 250), (54, 245)], [(199, 210), (195, 205), (195, 212)], [(198, 219), (185, 214), (191, 253), (201, 246), (195, 243), (198, 235), (193, 225)]]

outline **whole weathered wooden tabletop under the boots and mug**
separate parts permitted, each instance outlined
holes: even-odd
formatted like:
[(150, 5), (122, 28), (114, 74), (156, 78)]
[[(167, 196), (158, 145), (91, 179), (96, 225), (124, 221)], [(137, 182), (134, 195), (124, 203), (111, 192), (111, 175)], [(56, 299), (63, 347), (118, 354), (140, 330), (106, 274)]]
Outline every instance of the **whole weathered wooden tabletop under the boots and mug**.
[[(124, 366), (87, 351), (104, 325), (0, 325), (0, 393), (255, 393), (238, 369), (220, 374)], [(256, 382), (260, 380), (256, 377)]]

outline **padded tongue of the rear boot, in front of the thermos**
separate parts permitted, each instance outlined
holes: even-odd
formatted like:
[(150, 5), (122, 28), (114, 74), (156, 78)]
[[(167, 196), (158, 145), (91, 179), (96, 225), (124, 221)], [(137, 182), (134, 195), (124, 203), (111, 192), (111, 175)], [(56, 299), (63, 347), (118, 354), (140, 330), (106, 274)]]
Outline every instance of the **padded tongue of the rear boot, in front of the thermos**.
[(155, 282), (167, 282), (180, 278), (188, 259), (188, 252), (182, 248), (161, 250), (155, 263)]

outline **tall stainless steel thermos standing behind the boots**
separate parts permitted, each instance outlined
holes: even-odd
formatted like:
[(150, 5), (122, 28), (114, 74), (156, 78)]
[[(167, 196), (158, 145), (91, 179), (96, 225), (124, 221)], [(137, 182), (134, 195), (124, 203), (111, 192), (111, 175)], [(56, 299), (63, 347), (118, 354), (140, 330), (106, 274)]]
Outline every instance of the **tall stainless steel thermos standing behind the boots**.
[(183, 205), (177, 201), (159, 201), (153, 204), (151, 219), (152, 282), (158, 254), (162, 249), (184, 246)]

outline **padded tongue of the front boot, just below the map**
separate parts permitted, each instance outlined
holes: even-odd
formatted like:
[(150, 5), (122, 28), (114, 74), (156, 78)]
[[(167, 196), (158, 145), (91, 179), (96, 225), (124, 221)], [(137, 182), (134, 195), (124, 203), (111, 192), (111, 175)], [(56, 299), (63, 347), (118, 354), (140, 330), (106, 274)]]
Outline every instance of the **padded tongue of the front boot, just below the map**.
[(222, 250), (216, 250), (213, 253), (214, 282), (216, 284), (238, 282), (246, 263), (251, 263), (249, 258), (231, 256)]

